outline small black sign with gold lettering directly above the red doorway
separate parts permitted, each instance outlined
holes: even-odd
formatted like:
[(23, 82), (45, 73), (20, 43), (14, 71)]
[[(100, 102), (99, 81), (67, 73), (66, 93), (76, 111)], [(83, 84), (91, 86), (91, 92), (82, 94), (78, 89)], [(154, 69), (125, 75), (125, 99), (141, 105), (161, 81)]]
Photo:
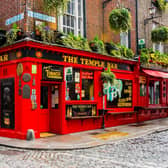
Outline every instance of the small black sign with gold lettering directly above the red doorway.
[(43, 80), (62, 80), (63, 79), (63, 67), (55, 65), (43, 65)]

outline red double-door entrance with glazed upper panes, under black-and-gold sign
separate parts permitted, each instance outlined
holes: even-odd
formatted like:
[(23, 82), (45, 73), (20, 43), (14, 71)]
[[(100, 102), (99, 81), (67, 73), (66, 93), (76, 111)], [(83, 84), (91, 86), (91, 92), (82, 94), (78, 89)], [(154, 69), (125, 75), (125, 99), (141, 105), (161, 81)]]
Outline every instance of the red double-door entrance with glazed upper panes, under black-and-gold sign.
[(57, 132), (57, 115), (59, 113), (59, 85), (41, 85), (41, 104), (40, 104), (40, 132)]

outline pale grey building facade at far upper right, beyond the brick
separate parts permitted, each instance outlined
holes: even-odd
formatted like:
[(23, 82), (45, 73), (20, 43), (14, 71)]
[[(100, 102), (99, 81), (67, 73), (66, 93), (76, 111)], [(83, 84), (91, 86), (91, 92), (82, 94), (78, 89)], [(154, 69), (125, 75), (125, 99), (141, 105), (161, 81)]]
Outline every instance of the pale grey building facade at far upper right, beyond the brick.
[[(154, 7), (154, 11), (150, 14), (150, 8)], [(159, 26), (168, 26), (168, 13), (160, 11), (156, 8), (151, 0), (138, 0), (138, 34), (139, 39), (145, 39), (146, 47), (168, 53), (166, 44), (154, 44), (151, 41), (152, 29)]]

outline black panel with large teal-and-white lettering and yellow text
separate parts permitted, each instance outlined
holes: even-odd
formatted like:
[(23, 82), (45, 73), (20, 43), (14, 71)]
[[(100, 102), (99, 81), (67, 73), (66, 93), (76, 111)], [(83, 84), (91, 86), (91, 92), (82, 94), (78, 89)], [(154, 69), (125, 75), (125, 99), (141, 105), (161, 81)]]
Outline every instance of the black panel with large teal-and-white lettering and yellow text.
[(132, 107), (132, 81), (117, 79), (108, 87), (107, 108)]

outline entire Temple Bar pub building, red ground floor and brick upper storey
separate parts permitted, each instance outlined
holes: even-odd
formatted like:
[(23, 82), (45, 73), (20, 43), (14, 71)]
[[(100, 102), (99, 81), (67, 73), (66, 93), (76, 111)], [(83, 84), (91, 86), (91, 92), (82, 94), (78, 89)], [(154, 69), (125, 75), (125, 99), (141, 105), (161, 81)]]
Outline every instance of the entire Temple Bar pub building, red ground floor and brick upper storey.
[[(79, 16), (72, 15), (75, 12), (70, 10), (72, 13), (67, 13), (60, 22), (62, 31), (86, 34), (89, 40), (96, 34), (104, 41), (113, 38), (114, 42), (123, 42), (126, 39), (125, 45), (135, 52), (136, 1), (124, 1), (132, 14), (133, 29), (129, 34), (120, 34), (122, 39), (112, 34), (107, 24), (114, 1), (106, 1), (111, 4), (106, 10), (97, 0), (71, 2), (71, 5), (80, 3), (76, 9), (85, 7), (85, 10), (79, 9), (85, 16), (79, 11)], [(38, 13), (41, 11), (35, 6), (33, 9), (17, 8), (17, 3), (12, 3), (17, 10), (5, 12), (10, 16), (2, 17), (0, 25), (4, 29), (10, 29), (10, 25), (17, 22), (27, 33), (36, 21), (50, 22), (48, 26), (51, 27), (56, 23), (53, 16)], [(10, 9), (6, 5), (9, 4), (4, 2), (0, 6), (1, 16), (4, 9)], [(93, 12), (97, 19), (93, 18)], [(65, 20), (69, 15), (72, 25), (67, 26)], [(78, 26), (73, 24), (73, 19), (79, 22)], [(28, 23), (30, 26), (25, 27)], [(103, 84), (100, 78), (101, 72), (108, 68), (116, 76), (113, 85)], [(167, 69), (142, 66), (137, 60), (72, 49), (28, 37), (1, 46), (0, 136), (26, 139), (28, 130), (32, 129), (35, 137), (40, 138), (43, 132), (68, 134), (167, 117), (167, 74)]]

